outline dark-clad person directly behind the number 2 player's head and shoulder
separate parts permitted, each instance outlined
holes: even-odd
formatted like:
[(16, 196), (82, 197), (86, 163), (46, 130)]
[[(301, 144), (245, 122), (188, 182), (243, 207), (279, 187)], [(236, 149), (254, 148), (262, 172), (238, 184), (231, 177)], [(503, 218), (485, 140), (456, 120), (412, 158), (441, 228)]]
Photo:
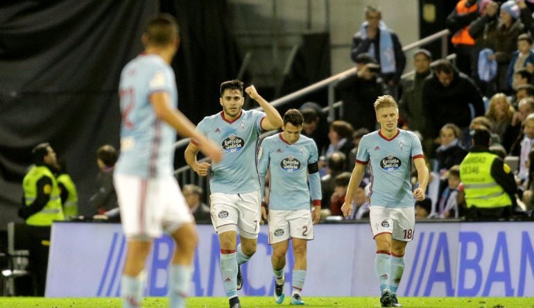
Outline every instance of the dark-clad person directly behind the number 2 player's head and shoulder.
[(313, 139), (317, 144), (319, 155), (325, 155), (329, 144), (327, 115), (318, 103), (311, 101), (302, 104), (299, 111), (304, 117), (302, 135)]

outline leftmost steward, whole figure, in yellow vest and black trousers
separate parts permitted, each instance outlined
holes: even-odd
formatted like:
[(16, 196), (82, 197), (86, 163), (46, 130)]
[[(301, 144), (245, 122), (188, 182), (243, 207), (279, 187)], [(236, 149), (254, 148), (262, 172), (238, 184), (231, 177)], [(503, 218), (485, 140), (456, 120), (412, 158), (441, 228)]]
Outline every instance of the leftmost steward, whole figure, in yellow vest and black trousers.
[(64, 214), (60, 187), (54, 175), (58, 171), (58, 160), (53, 148), (49, 143), (38, 144), (32, 150), (32, 159), (35, 165), (22, 181), (24, 204), (19, 209), (19, 216), (26, 221), (31, 234), (29, 267), (37, 277), (37, 295), (44, 296), (49, 254), (49, 245), (44, 241), (50, 241), (52, 222), (64, 220)]

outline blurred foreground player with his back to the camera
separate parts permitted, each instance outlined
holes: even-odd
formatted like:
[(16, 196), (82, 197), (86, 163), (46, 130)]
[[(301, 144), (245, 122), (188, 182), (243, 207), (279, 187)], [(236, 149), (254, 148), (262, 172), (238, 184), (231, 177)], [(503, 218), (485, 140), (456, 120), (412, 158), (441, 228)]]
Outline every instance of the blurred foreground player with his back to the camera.
[(176, 248), (169, 265), (169, 305), (185, 307), (196, 246), (189, 207), (173, 177), (175, 131), (193, 137), (212, 160), (222, 153), (176, 109), (178, 92), (169, 65), (178, 50), (178, 24), (171, 15), (151, 19), (142, 36), (144, 53), (121, 73), (121, 155), (114, 170), (128, 252), (121, 280), (123, 307), (139, 307), (144, 264), (152, 240), (171, 234)]

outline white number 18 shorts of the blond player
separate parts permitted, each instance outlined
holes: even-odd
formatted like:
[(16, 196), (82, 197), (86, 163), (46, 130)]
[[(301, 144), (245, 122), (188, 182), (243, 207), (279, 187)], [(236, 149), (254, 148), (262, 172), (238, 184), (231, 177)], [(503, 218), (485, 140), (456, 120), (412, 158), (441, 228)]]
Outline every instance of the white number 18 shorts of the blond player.
[(414, 207), (370, 207), (369, 220), (373, 239), (382, 233), (390, 233), (398, 241), (412, 241), (415, 233)]

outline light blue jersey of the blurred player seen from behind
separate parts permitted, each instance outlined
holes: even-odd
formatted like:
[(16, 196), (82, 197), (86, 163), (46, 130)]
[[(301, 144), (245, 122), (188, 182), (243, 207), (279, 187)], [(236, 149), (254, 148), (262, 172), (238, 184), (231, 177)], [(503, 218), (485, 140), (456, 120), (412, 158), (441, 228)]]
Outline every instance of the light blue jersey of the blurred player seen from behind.
[(163, 91), (178, 106), (174, 72), (158, 55), (141, 54), (121, 72), (121, 153), (115, 172), (143, 178), (173, 175), (175, 130), (157, 119), (150, 94)]

